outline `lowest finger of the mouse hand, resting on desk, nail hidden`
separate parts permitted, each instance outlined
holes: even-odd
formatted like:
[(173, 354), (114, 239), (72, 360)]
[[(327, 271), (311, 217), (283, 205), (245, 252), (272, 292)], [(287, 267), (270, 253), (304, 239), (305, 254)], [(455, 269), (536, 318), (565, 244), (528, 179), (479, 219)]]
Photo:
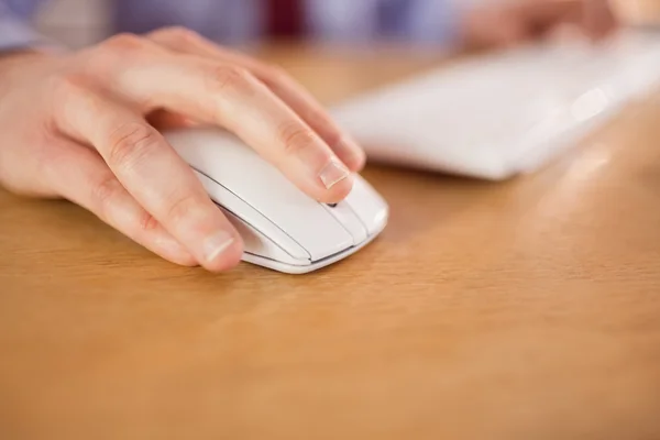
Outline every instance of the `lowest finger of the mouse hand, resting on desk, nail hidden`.
[(44, 176), (64, 198), (95, 213), (124, 235), (175, 264), (197, 261), (124, 189), (94, 151), (70, 143), (50, 155)]

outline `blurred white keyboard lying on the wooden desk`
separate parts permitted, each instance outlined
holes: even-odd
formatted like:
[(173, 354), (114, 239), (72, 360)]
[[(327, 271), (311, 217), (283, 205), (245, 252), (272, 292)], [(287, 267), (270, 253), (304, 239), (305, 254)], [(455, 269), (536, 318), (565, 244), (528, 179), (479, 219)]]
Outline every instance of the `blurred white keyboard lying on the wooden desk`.
[(472, 58), (360, 96), (333, 116), (371, 161), (497, 180), (576, 145), (659, 80), (660, 38), (627, 34)]

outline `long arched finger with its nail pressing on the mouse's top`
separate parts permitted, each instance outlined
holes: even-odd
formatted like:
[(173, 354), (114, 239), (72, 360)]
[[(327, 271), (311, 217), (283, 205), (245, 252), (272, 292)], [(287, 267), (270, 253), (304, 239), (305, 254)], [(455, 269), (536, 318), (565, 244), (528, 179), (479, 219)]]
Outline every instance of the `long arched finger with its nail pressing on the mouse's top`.
[(130, 68), (125, 55), (116, 56), (95, 74), (107, 76), (111, 91), (141, 103), (142, 111), (176, 111), (228, 129), (319, 201), (338, 202), (350, 193), (353, 176), (332, 150), (245, 69), (190, 55), (141, 55), (129, 57)]

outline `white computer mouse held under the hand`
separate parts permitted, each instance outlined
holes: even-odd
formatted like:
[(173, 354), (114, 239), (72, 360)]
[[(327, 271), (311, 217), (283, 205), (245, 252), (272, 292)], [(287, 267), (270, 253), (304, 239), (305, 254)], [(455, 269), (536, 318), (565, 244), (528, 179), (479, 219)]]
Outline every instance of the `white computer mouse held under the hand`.
[(243, 261), (309, 273), (355, 253), (385, 228), (388, 206), (360, 176), (334, 207), (299, 190), (238, 138), (213, 128), (164, 133), (244, 241)]

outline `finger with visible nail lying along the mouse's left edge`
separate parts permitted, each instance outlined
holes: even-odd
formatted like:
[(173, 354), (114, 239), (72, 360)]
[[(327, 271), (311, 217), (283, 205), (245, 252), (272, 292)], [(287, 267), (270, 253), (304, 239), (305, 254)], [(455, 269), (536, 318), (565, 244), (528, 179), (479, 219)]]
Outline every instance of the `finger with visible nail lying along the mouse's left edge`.
[(66, 96), (56, 117), (62, 131), (94, 145), (136, 202), (206, 268), (223, 271), (239, 263), (240, 235), (153, 127), (85, 89), (69, 87)]

